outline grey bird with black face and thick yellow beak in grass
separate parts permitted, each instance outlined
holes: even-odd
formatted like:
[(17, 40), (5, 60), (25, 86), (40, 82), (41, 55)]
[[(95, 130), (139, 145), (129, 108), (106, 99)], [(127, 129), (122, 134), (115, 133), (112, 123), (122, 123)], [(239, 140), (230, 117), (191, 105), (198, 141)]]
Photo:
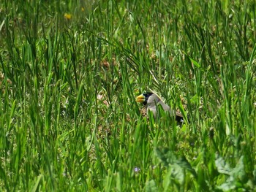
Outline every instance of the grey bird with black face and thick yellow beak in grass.
[(154, 118), (157, 118), (158, 113), (157, 113), (157, 108), (159, 105), (162, 106), (162, 109), (166, 112), (170, 113), (170, 116), (176, 115), (176, 121), (178, 123), (183, 123), (184, 122), (184, 117), (181, 113), (175, 112), (174, 110), (171, 110), (170, 107), (165, 104), (157, 94), (152, 93), (152, 92), (146, 92), (143, 94), (140, 94), (139, 96), (136, 97), (135, 101), (142, 103), (146, 107), (146, 112), (148, 113), (148, 110), (150, 110)]

